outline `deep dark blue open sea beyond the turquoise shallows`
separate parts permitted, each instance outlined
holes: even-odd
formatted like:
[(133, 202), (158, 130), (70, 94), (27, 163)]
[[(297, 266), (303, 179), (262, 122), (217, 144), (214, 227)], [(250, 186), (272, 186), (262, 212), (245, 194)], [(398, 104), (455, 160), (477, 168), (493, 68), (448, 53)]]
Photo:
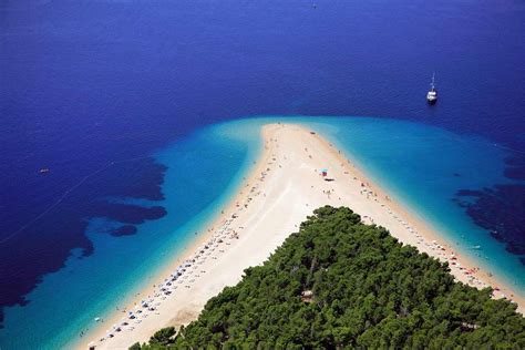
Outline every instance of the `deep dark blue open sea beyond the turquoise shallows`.
[[(457, 172), (465, 183), (452, 199), (524, 255), (525, 3), (316, 4), (0, 2), (1, 346), (11, 308), (30, 308), (72, 255), (87, 261), (95, 244), (134, 241), (172, 219), (171, 169), (155, 150), (246, 115), (379, 116), (505, 147), (496, 168), (507, 178), (482, 188)], [(440, 101), (429, 107), (433, 71)]]

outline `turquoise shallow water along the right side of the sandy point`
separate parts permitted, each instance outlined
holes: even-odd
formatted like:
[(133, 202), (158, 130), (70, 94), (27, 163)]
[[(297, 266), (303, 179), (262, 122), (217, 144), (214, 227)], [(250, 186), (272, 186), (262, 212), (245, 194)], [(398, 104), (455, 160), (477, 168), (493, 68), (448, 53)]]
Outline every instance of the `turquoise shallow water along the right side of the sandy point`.
[[(353, 117), (307, 124), (460, 251), (525, 291), (525, 266), (518, 256), (506, 251), (454, 202), (461, 189), (519, 184), (504, 175), (508, 151), (481, 137), (413, 122)], [(475, 246), (481, 249), (473, 249)]]

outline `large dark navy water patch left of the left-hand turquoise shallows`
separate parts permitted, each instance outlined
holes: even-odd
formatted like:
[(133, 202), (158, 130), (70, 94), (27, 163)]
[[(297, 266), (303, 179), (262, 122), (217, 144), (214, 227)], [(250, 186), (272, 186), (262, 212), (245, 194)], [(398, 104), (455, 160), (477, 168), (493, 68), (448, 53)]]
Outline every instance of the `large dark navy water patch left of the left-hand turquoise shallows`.
[[(141, 207), (100, 200), (104, 196), (122, 196), (161, 200), (164, 195), (161, 186), (166, 167), (151, 157), (126, 162), (115, 162), (86, 172), (62, 195), (62, 199), (50, 202), (45, 215), (23, 229), (4, 231), (0, 244), (0, 327), (3, 323), (3, 309), (9, 306), (24, 306), (30, 300), (27, 295), (42, 281), (47, 274), (64, 267), (71, 250), (81, 249), (80, 257), (93, 254), (93, 245), (85, 236), (91, 217), (107, 217), (127, 225), (112, 231), (113, 236), (131, 235), (134, 225), (145, 220), (158, 219), (166, 215), (162, 206)], [(90, 176), (94, 174), (93, 176)], [(49, 174), (52, 176), (53, 174)], [(62, 174), (63, 175), (63, 174)], [(45, 186), (42, 191), (45, 191)], [(59, 197), (50, 193), (48, 197)], [(8, 214), (17, 213), (13, 202)], [(6, 214), (6, 212), (4, 212)], [(22, 213), (23, 214), (23, 213)], [(34, 213), (34, 216), (38, 216)]]

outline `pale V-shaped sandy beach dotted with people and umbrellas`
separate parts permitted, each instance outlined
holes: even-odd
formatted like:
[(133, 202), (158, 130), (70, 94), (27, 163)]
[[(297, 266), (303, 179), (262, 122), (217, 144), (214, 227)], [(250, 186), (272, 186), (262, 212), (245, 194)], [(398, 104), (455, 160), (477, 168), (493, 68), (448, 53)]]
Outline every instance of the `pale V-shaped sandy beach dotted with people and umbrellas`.
[[(401, 241), (447, 260), (463, 282), (497, 286), (495, 297), (513, 299), (523, 313), (523, 296), (459, 255), (453, 243), (397, 204), (319, 135), (298, 125), (271, 124), (264, 127), (262, 136), (265, 150), (257, 165), (205, 237), (183, 258), (173, 257), (168, 268), (153, 278), (155, 286), (141, 292), (126, 310), (102, 316), (104, 322), (83, 337), (80, 349), (87, 349), (89, 343), (96, 349), (127, 349), (163, 327), (191, 322), (209, 298), (237, 284), (245, 268), (262, 264), (313, 209), (327, 204), (348, 206), (363, 222), (384, 226)], [(328, 168), (331, 181), (322, 177), (321, 168)], [(182, 275), (174, 278), (182, 264), (185, 270), (178, 269)], [(112, 330), (113, 325), (120, 331)]]

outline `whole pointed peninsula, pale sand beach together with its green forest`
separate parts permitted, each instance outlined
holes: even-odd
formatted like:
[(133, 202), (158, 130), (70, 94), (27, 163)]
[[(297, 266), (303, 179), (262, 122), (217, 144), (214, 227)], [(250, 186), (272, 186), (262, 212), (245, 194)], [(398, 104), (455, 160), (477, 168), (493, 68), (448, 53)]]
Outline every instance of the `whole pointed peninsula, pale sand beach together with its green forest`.
[(128, 348), (193, 321), (176, 340), (173, 329), (156, 333), (158, 342), (523, 348), (523, 296), (316, 131), (275, 123), (261, 133), (260, 156), (230, 204), (76, 348)]

